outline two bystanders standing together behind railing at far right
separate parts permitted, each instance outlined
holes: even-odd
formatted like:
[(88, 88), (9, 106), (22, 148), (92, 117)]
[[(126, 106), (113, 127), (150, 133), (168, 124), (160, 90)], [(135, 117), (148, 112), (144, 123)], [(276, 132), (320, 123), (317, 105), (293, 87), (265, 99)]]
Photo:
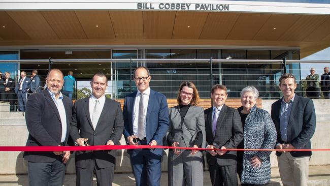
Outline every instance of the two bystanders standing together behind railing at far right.
[(321, 76), (321, 81), (319, 82), (319, 75), (315, 74), (315, 69), (311, 68), (311, 74), (306, 76), (307, 89), (306, 96), (311, 99), (319, 99), (321, 96), (321, 91), (325, 99), (330, 99), (330, 72), (329, 67), (324, 67)]

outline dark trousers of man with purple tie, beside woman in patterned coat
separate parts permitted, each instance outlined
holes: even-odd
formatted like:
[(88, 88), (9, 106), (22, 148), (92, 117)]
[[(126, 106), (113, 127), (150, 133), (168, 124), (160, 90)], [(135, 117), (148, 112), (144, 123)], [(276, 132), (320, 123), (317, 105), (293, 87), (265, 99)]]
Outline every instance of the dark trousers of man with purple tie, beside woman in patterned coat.
[(219, 166), (218, 164), (209, 164), (209, 171), (213, 186), (238, 185), (236, 165)]

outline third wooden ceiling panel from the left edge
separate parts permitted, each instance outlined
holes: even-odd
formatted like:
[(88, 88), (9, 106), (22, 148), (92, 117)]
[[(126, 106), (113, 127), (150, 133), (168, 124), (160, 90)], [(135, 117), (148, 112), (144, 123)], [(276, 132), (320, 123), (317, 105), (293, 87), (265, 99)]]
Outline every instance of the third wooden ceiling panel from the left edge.
[(74, 11), (42, 11), (41, 13), (59, 39), (87, 38)]

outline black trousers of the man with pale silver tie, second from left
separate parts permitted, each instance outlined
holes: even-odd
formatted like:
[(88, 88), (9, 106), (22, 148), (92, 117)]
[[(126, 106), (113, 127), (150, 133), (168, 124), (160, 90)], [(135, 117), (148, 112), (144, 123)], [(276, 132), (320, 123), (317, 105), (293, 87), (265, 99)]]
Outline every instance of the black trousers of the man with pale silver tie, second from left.
[(97, 186), (111, 186), (113, 181), (114, 166), (100, 169), (97, 167), (95, 160), (86, 160), (88, 165), (85, 169), (76, 167), (76, 185), (91, 186), (93, 185), (94, 171), (96, 175)]

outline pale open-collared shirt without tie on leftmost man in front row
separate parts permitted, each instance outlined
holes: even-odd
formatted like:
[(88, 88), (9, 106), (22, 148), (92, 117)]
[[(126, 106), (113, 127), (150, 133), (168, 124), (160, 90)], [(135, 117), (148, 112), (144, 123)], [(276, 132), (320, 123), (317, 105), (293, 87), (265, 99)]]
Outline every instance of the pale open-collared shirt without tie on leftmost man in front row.
[[(48, 90), (48, 88), (47, 88), (47, 90)], [(59, 96), (56, 99), (55, 95), (51, 91), (48, 90), (48, 92), (50, 94), (50, 97), (52, 97), (52, 99), (57, 107), (59, 117), (61, 118), (61, 126), (62, 126), (61, 142), (64, 142), (65, 137), (67, 136), (67, 114), (65, 113), (65, 108), (64, 108), (64, 105), (62, 102), (63, 95), (61, 92), (59, 92)]]

